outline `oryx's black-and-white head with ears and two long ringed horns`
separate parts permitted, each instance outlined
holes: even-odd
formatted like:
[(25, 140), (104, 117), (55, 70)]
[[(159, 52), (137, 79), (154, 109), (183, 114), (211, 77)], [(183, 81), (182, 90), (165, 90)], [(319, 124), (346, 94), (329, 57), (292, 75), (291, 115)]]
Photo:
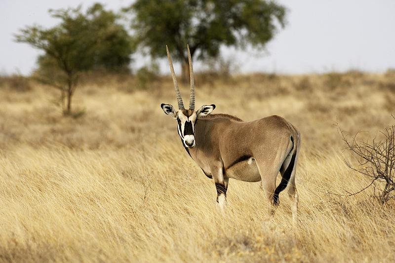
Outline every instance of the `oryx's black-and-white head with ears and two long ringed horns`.
[(180, 89), (178, 88), (176, 75), (174, 73), (173, 62), (171, 61), (170, 52), (166, 45), (167, 58), (169, 59), (169, 66), (171, 77), (173, 78), (174, 89), (176, 91), (178, 111), (170, 104), (160, 104), (160, 107), (165, 114), (170, 115), (175, 120), (177, 120), (177, 131), (180, 135), (181, 140), (186, 148), (195, 147), (195, 125), (198, 117), (206, 116), (210, 114), (214, 109), (215, 105), (203, 105), (200, 109), (195, 111), (195, 79), (194, 79), (194, 69), (192, 67), (191, 52), (188, 48), (188, 60), (189, 60), (189, 75), (191, 81), (191, 93), (189, 97), (189, 109), (185, 109), (184, 103), (182, 101)]

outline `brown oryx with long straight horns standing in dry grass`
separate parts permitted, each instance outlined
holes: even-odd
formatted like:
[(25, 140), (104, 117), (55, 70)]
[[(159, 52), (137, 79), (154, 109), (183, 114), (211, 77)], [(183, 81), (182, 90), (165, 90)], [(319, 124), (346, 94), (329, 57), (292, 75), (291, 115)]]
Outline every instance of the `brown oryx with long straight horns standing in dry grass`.
[[(215, 105), (203, 105), (195, 111), (195, 81), (192, 59), (188, 49), (191, 93), (189, 109), (185, 109), (177, 85), (173, 63), (166, 45), (179, 110), (161, 104), (164, 113), (177, 120), (181, 141), (203, 173), (213, 178), (217, 202), (223, 209), (229, 178), (257, 182), (262, 180), (266, 198), (274, 213), (279, 204), (278, 194), (289, 183), (288, 194), (293, 199), (292, 218), (296, 221), (298, 195), (295, 172), (300, 150), (300, 132), (279, 116), (244, 122), (227, 114), (210, 114)], [(276, 177), (282, 179), (276, 187)]]

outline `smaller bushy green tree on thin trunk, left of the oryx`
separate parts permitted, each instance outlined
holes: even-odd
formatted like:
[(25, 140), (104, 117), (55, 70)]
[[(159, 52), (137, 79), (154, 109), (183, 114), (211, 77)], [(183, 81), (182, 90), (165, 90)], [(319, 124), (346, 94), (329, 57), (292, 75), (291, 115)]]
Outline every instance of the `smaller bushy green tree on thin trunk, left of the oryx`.
[(127, 68), (133, 46), (127, 31), (117, 22), (118, 15), (99, 3), (85, 13), (80, 6), (49, 13), (61, 22), (49, 29), (28, 26), (20, 30), (16, 41), (44, 51), (38, 58), (38, 79), (61, 90), (63, 112), (69, 114), (80, 73)]

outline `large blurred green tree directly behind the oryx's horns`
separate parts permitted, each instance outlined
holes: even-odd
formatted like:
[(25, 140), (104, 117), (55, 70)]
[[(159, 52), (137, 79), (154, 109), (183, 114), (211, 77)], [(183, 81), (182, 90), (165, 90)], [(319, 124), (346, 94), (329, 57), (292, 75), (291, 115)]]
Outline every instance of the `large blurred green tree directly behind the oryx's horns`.
[(266, 0), (136, 0), (124, 9), (132, 14), (131, 27), (137, 44), (148, 47), (153, 57), (163, 57), (164, 45), (182, 63), (188, 80), (191, 56), (216, 57), (222, 44), (263, 48), (285, 23), (284, 6)]

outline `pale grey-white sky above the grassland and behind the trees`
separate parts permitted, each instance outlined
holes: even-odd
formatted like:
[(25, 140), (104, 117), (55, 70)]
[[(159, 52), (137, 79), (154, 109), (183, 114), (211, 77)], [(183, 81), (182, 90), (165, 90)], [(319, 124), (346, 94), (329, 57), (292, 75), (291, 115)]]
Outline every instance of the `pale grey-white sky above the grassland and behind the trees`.
[[(29, 74), (40, 51), (13, 42), (18, 29), (32, 24), (50, 27), (57, 23), (47, 10), (83, 7), (98, 0), (0, 0), (0, 74)], [(118, 10), (131, 0), (99, 0)], [(276, 73), (321, 73), (328, 71), (384, 72), (395, 68), (394, 0), (279, 0), (289, 9), (288, 24), (267, 45), (267, 52), (222, 48), (239, 71)], [(150, 59), (134, 55), (133, 68)], [(201, 63), (194, 63), (198, 71)], [(162, 73), (168, 71), (165, 59)], [(180, 67), (175, 67), (179, 70)]]

